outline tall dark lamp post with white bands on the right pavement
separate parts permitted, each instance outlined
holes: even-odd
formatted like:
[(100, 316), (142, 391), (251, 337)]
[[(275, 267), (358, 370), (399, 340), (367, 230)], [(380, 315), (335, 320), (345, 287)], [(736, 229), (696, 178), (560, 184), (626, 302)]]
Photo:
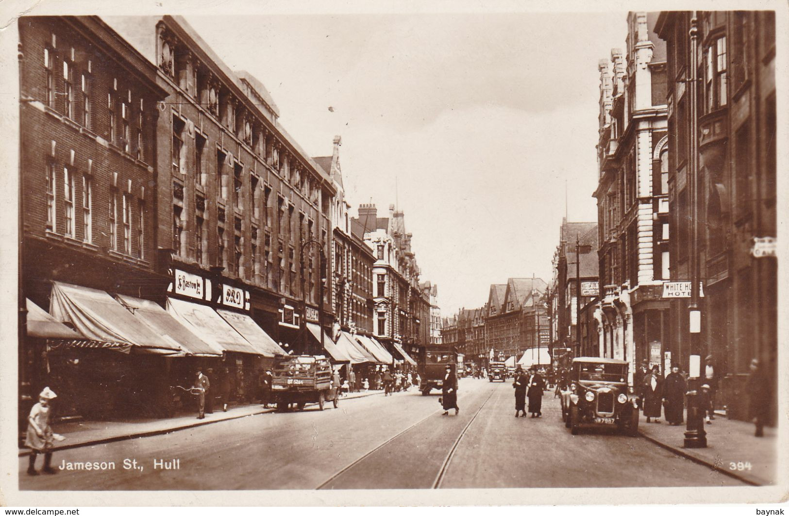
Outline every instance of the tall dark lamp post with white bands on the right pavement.
[(701, 416), (701, 309), (699, 308), (698, 257), (698, 18), (694, 11), (690, 18), (690, 365), (688, 368), (688, 414), (685, 429), (686, 448), (707, 447), (707, 432)]

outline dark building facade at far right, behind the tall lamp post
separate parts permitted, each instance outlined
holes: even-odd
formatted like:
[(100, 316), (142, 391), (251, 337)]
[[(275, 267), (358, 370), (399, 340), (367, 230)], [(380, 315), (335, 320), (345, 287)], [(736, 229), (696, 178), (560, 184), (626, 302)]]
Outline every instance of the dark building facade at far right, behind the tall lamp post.
[[(697, 133), (690, 132), (689, 31), (697, 27)], [(698, 252), (702, 351), (722, 376), (719, 403), (747, 417), (742, 396), (752, 358), (776, 390), (776, 20), (773, 11), (660, 13), (656, 31), (667, 43), (666, 164), (671, 213), (671, 280), (690, 280)], [(697, 139), (697, 190), (692, 191), (691, 140)], [(697, 199), (698, 239), (690, 213)], [(673, 238), (676, 236), (676, 238)], [(760, 240), (761, 239), (761, 240)], [(766, 247), (765, 251), (761, 247)], [(671, 304), (672, 357), (687, 367), (688, 303)], [(769, 402), (773, 414), (775, 399)]]

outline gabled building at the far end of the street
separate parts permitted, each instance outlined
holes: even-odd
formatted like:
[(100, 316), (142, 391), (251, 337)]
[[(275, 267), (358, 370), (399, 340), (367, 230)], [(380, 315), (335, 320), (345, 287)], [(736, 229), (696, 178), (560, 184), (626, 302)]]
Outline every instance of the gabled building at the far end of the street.
[(491, 285), (484, 342), (496, 360), (540, 347), (540, 333), (548, 347), (548, 310), (543, 299), (546, 288), (548, 284), (540, 278), (509, 278), (507, 284)]

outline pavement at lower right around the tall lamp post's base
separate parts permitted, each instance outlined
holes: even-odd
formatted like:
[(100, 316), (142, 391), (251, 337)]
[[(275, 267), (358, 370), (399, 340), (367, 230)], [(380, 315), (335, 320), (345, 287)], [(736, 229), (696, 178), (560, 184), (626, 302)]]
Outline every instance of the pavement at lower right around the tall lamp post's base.
[[(684, 419), (687, 421), (687, 414)], [(647, 423), (641, 417), (638, 432), (645, 439), (667, 448), (678, 455), (700, 462), (754, 485), (769, 485), (776, 482), (778, 455), (778, 430), (765, 427), (764, 437), (754, 437), (753, 423), (726, 419), (716, 415), (712, 425), (705, 425), (707, 447), (683, 447), (685, 424), (671, 426), (660, 418), (660, 424)], [(739, 468), (742, 463), (742, 470)], [(750, 463), (750, 470), (748, 465)]]

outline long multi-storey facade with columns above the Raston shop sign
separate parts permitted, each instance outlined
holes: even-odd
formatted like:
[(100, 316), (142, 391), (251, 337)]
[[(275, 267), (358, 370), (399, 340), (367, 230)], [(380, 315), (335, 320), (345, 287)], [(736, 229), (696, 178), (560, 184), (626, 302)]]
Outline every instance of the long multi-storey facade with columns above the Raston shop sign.
[(143, 33), (139, 19), (112, 23), (168, 92), (157, 106), (158, 269), (213, 278), (272, 338), (307, 349), (305, 321), (323, 315), (331, 327), (331, 277), (319, 299), (331, 178), (279, 124), (259, 80), (228, 69), (181, 17), (144, 20)]

